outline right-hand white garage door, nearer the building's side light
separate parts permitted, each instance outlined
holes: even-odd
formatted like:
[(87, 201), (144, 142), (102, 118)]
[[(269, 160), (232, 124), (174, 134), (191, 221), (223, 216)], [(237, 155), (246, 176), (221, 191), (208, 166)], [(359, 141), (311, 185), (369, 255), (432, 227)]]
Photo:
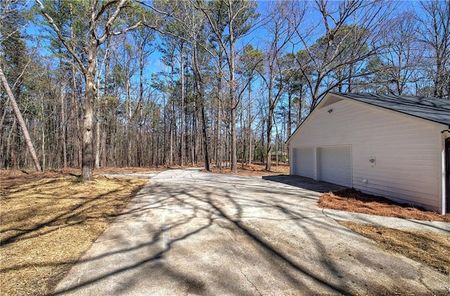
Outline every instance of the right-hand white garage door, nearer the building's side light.
[(352, 187), (351, 146), (317, 148), (318, 180)]

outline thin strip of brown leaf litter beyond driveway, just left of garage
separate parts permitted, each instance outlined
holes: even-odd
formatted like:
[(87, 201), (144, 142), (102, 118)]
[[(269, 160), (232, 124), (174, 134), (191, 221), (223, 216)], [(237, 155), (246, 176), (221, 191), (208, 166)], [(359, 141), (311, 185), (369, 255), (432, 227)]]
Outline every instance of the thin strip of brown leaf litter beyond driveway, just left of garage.
[[(205, 171), (203, 171), (205, 172)], [(231, 174), (238, 176), (272, 176), (274, 174), (289, 174), (289, 165), (272, 163), (271, 170), (266, 171), (266, 165), (260, 163), (252, 163), (250, 165), (238, 164), (238, 172), (230, 172), (230, 167), (211, 167), (211, 172), (215, 174)]]

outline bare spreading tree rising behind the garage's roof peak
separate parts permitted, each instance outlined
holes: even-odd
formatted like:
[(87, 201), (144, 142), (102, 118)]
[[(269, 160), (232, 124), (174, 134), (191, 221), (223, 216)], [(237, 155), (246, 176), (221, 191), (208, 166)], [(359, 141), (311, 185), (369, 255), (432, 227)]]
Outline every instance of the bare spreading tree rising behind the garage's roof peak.
[[(366, 75), (356, 67), (361, 69), (365, 60), (378, 53), (377, 36), (387, 23), (392, 4), (316, 0), (311, 5), (319, 11), (321, 21), (311, 27), (307, 25), (307, 19), (302, 18), (302, 6), (295, 3), (288, 19), (307, 53), (307, 63), (297, 60), (297, 66), (307, 79), (310, 106), (314, 108), (331, 89), (347, 84), (347, 91), (351, 91), (352, 80)], [(313, 44), (311, 41), (318, 34), (323, 37)]]

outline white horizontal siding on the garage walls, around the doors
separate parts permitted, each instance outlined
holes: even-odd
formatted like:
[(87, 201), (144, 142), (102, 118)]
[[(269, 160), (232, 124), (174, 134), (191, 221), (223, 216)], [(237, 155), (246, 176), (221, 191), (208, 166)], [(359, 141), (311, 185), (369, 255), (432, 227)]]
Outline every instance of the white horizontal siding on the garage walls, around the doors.
[[(345, 99), (319, 105), (289, 145), (352, 145), (354, 188), (440, 211), (444, 129), (444, 124)], [(320, 178), (315, 172), (314, 179)]]

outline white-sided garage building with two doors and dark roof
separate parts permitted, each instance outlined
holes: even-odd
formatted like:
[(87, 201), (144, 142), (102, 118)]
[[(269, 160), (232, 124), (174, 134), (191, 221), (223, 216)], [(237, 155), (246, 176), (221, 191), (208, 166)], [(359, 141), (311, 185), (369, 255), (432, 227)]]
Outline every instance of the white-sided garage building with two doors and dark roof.
[(449, 212), (450, 101), (329, 93), (288, 139), (290, 174)]

